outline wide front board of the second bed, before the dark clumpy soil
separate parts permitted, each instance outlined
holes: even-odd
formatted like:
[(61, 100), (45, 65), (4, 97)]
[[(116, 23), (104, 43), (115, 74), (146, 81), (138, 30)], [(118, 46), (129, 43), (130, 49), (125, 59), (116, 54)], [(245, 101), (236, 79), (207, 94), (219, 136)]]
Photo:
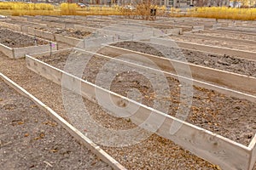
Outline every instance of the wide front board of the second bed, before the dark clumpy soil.
[[(107, 54), (108, 56), (112, 56), (112, 57), (116, 57), (121, 54), (138, 54), (148, 58), (150, 61), (153, 61), (154, 64), (158, 65), (162, 71), (175, 73), (175, 74), (176, 74), (175, 68), (185, 68), (185, 66), (189, 66), (189, 69), (190, 69), (189, 71), (191, 71), (192, 77), (198, 81), (211, 82), (213, 84), (217, 84), (218, 86), (223, 86), (223, 87), (231, 88), (231, 89), (242, 91), (242, 92), (247, 92), (249, 94), (256, 94), (256, 86), (255, 86), (256, 78), (255, 77), (247, 77), (244, 75), (239, 75), (239, 74), (228, 72), (228, 71), (220, 71), (217, 69), (212, 69), (212, 68), (204, 67), (201, 65), (194, 65), (194, 64), (185, 63), (182, 61), (177, 61), (174, 59), (166, 59), (166, 58), (151, 55), (151, 54), (143, 54), (143, 53), (132, 51), (129, 49), (117, 48), (117, 47), (108, 46), (108, 45), (105, 45), (104, 48), (102, 48), (99, 51), (99, 53)], [(142, 61), (141, 58), (137, 58), (137, 60)], [(146, 61), (143, 61), (143, 62), (146, 62)], [(147, 64), (150, 65), (150, 63), (147, 63)], [(184, 72), (183, 75), (188, 75), (188, 73)], [(244, 82), (247, 82), (247, 83), (244, 83)], [(237, 95), (237, 93), (236, 94), (229, 93), (228, 95), (235, 95), (237, 98), (244, 98), (242, 95), (241, 96)], [(253, 102), (255, 102), (254, 98), (248, 97), (247, 99), (251, 101), (253, 100)]]

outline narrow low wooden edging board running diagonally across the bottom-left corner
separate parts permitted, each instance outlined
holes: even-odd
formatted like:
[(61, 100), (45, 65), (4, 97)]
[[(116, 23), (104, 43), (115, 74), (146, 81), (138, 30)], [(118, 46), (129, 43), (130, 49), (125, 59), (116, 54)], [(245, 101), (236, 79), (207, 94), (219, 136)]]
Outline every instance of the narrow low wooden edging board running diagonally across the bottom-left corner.
[(102, 161), (105, 161), (109, 166), (113, 167), (116, 170), (125, 170), (118, 161), (114, 160), (113, 157), (109, 156), (107, 152), (102, 150), (97, 144), (93, 143), (90, 139), (84, 136), (83, 133), (79, 132), (78, 129), (73, 127), (65, 119), (59, 116), (55, 111), (51, 110), (47, 105), (44, 105), (39, 99), (34, 97), (32, 94), (29, 94), (24, 88), (21, 88), (18, 84), (10, 80), (8, 77), (5, 77), (0, 72), (0, 77), (6, 82), (10, 87), (14, 88), (18, 93), (24, 95), (26, 98), (31, 99), (38, 107), (47, 113), (55, 122), (58, 122), (62, 127), (64, 127), (68, 133), (70, 133), (75, 139), (77, 139), (81, 144), (84, 144), (89, 150), (91, 150), (96, 156), (98, 156)]

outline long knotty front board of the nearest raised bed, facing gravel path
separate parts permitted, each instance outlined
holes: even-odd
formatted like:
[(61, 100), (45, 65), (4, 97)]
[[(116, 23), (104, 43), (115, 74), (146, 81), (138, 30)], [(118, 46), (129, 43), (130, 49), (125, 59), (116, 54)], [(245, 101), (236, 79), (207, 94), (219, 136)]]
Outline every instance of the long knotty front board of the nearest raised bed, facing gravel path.
[[(127, 99), (119, 94), (114, 94), (104, 88), (97, 87), (95, 84), (86, 82), (78, 77), (68, 74), (65, 71), (56, 69), (55, 67), (45, 64), (38, 59), (26, 55), (26, 64), (29, 69), (37, 72), (40, 76), (46, 77), (53, 82), (61, 85), (61, 78), (65, 77), (65, 82), (68, 82), (69, 86), (64, 88), (76, 89), (78, 84), (81, 85), (81, 91), (79, 94), (92, 101), (96, 101), (96, 92), (100, 93), (102, 98), (105, 99), (107, 105), (113, 102), (115, 105), (123, 103), (123, 101), (130, 102), (129, 108), (138, 108), (136, 113), (130, 116), (131, 121), (137, 125), (142, 125), (145, 122), (145, 118), (149, 118), (149, 122), (145, 123), (144, 128), (151, 130), (158, 127), (157, 134), (164, 138), (171, 139), (176, 144), (183, 146), (186, 150), (191, 151), (196, 156), (200, 156), (207, 161), (217, 164), (224, 169), (247, 169), (250, 159), (250, 150), (247, 146), (237, 144), (236, 142), (226, 139), (216, 133), (209, 132), (201, 127), (196, 127), (188, 122), (182, 122), (173, 116), (166, 115), (160, 111), (156, 111), (145, 105), (139, 104), (136, 101)], [(111, 101), (109, 101), (111, 97)], [(109, 104), (110, 104), (109, 103)], [(109, 108), (108, 108), (109, 109)], [(129, 113), (125, 111), (124, 115)], [(157, 121), (156, 121), (157, 120)], [(159, 120), (165, 120), (161, 126), (159, 126)], [(181, 123), (182, 127), (179, 128), (177, 133), (170, 133), (172, 123)]]

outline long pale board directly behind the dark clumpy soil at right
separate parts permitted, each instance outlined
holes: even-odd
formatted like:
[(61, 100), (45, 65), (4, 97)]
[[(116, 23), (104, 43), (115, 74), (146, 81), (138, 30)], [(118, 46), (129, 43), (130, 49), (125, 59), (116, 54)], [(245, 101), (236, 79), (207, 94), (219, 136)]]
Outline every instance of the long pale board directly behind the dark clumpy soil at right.
[[(172, 41), (172, 39), (158, 38), (158, 37), (151, 37), (150, 39), (152, 42), (158, 42), (158, 43), (164, 43), (164, 44)], [(203, 44), (192, 43), (192, 42), (179, 42), (179, 41), (175, 41), (175, 42), (177, 43), (177, 46), (179, 48), (195, 49), (195, 50), (199, 50), (207, 53), (227, 54), (231, 56), (236, 56), (241, 59), (256, 60), (256, 53), (254, 52), (232, 49), (232, 48), (221, 48), (217, 46), (203, 45)]]

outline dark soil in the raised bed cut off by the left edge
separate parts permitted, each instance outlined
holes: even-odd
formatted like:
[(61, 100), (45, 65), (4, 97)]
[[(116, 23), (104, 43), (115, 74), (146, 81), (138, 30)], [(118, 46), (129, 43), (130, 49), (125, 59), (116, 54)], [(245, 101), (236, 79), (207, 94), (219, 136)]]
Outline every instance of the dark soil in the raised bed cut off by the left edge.
[(37, 40), (38, 45), (49, 43), (38, 38), (26, 36), (25, 34), (20, 34), (16, 31), (0, 28), (0, 43), (3, 43), (9, 48), (24, 48), (34, 46), (35, 40)]

